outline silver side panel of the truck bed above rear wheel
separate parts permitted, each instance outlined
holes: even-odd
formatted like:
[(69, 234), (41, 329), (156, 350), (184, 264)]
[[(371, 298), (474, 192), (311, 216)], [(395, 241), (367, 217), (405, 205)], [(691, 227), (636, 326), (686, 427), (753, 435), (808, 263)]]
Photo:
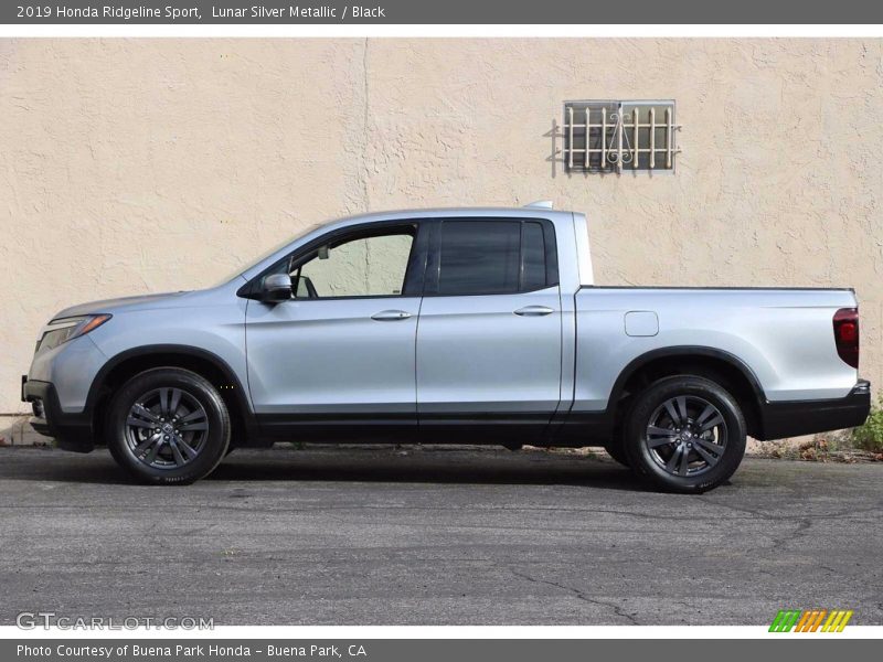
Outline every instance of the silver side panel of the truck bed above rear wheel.
[(833, 316), (850, 288), (597, 287), (574, 297), (574, 410), (607, 406), (626, 366), (653, 350), (728, 354), (769, 402), (847, 396), (857, 371), (838, 355)]

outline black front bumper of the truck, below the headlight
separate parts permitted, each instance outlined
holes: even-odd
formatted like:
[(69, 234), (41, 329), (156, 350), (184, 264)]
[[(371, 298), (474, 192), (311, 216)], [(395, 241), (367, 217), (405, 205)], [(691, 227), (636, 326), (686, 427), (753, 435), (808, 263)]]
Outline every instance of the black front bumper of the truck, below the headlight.
[(21, 399), (33, 407), (34, 415), (29, 423), (38, 434), (52, 437), (64, 450), (89, 452), (95, 448), (92, 416), (62, 412), (58, 394), (50, 382), (22, 375)]

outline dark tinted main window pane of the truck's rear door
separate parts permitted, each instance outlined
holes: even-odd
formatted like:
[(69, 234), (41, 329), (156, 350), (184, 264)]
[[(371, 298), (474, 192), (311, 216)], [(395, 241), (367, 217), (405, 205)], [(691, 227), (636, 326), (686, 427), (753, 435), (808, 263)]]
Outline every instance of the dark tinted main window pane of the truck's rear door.
[(521, 223), (445, 221), (439, 237), (439, 295), (499, 295), (519, 289)]

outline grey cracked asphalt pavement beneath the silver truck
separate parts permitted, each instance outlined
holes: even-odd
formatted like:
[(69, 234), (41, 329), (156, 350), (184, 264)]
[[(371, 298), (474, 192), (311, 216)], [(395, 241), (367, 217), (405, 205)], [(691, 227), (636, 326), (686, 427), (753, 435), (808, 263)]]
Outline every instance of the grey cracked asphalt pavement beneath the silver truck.
[(185, 488), (106, 451), (0, 449), (0, 623), (883, 624), (883, 466), (747, 459), (701, 496), (606, 459), (416, 448), (236, 451)]

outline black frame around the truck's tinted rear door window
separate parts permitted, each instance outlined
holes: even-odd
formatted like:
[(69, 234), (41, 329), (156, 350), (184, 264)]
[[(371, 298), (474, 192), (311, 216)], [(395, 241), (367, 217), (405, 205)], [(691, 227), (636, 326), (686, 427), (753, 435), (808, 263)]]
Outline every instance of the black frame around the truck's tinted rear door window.
[[(481, 226), (482, 223), (518, 223), (520, 224), (519, 244), (519, 285), (518, 289), (508, 292), (439, 292), (438, 286), (442, 275), (442, 229), (446, 222), (474, 223)], [(524, 228), (528, 223), (538, 223), (543, 231), (543, 248), (545, 257), (545, 282), (539, 287), (525, 288), (524, 280)], [(435, 218), (429, 223), (428, 233), (428, 255), (425, 268), (424, 297), (508, 297), (512, 295), (524, 295), (556, 287), (558, 285), (557, 265), (557, 242), (555, 237), (555, 225), (549, 218), (534, 218), (525, 216), (449, 216)]]

